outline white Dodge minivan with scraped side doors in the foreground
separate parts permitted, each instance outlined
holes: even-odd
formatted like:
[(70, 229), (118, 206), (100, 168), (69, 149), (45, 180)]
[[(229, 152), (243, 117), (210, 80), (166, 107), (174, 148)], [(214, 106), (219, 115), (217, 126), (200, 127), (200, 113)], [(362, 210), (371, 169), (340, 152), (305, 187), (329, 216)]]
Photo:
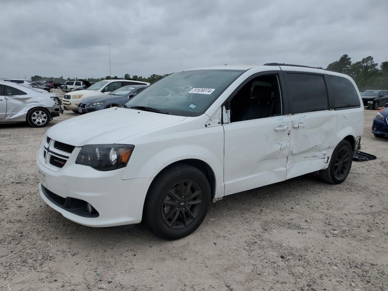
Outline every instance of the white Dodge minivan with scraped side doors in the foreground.
[(361, 104), (349, 76), (305, 66), (173, 73), (122, 106), (52, 126), (36, 156), (40, 196), (83, 225), (145, 221), (178, 239), (223, 196), (307, 173), (343, 182)]

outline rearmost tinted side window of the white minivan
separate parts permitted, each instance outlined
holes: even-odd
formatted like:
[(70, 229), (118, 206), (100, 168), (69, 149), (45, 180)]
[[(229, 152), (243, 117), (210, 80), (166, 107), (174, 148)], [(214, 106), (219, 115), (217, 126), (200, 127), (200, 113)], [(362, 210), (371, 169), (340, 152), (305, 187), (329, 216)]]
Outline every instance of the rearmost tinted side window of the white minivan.
[(330, 98), (334, 98), (336, 109), (346, 107), (359, 107), (360, 99), (353, 84), (346, 78), (340, 76), (326, 75), (331, 87)]

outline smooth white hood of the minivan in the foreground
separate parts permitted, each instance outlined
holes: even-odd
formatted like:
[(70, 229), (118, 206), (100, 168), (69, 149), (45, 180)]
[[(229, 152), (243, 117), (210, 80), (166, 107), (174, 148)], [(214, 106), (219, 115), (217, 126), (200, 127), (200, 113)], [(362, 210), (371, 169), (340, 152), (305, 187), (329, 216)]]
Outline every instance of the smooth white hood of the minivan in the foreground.
[(62, 121), (52, 126), (47, 135), (51, 139), (77, 147), (85, 144), (114, 144), (139, 133), (180, 122), (185, 118), (112, 107)]

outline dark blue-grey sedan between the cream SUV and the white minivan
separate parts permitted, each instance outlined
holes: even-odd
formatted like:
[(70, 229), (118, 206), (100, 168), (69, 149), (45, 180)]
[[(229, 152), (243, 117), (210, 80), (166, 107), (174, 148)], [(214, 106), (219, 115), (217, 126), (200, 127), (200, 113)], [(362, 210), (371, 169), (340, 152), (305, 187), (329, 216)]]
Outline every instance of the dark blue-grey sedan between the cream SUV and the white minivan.
[(147, 87), (147, 85), (127, 85), (114, 90), (111, 94), (87, 97), (78, 104), (78, 113), (89, 113), (119, 106)]

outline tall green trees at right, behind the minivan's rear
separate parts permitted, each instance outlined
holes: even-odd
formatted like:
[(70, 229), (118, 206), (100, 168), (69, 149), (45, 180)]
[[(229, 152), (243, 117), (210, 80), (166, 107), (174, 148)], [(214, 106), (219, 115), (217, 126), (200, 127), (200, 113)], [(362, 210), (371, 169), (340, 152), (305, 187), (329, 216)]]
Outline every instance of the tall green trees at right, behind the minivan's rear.
[(388, 89), (388, 61), (378, 66), (371, 55), (353, 63), (348, 55), (343, 55), (329, 64), (327, 69), (351, 76), (360, 92)]

